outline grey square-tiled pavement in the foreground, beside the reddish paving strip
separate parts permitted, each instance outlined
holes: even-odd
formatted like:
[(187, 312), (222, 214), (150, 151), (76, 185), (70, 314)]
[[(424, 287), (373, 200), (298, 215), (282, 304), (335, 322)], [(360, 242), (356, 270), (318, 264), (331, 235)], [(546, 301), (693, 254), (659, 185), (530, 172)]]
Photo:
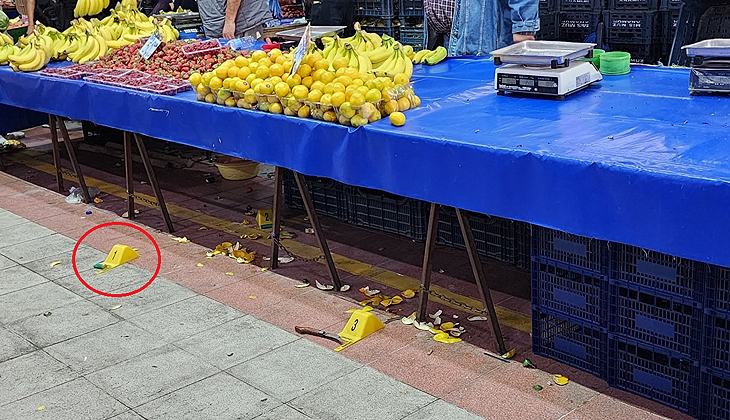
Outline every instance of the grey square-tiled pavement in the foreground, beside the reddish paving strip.
[(0, 419), (481, 418), (162, 277), (117, 307), (74, 243), (0, 210)]

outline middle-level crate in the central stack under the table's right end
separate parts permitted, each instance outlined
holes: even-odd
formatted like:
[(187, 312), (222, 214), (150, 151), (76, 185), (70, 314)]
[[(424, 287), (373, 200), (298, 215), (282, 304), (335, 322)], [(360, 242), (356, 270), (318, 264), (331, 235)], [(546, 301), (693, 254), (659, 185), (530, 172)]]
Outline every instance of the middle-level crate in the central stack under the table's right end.
[(703, 325), (700, 304), (614, 280), (609, 293), (609, 332), (699, 360)]

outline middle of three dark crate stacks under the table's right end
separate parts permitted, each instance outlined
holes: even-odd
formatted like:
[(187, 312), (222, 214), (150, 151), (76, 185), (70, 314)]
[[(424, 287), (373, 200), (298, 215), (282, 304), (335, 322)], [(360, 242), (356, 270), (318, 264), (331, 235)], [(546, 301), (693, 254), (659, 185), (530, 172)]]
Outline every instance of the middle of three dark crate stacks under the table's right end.
[(698, 415), (707, 265), (611, 244), (609, 384)]

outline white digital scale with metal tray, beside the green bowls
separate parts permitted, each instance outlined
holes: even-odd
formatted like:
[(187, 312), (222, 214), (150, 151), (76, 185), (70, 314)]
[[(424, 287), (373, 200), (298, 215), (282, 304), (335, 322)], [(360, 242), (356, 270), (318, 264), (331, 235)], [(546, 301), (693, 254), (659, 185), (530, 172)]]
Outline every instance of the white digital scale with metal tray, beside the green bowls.
[[(523, 41), (492, 51), (497, 93), (546, 95), (557, 99), (585, 89), (603, 79), (590, 61), (595, 44), (555, 41)], [(502, 66), (502, 64), (506, 64)]]

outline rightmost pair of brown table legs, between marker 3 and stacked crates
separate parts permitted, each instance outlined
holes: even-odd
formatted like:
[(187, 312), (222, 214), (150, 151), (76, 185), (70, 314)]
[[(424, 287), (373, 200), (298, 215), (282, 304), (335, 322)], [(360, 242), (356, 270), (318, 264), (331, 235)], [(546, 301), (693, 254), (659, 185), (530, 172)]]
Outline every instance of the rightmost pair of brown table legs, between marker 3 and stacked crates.
[[(419, 289), (419, 305), (418, 305), (418, 320), (423, 322), (426, 320), (428, 296), (431, 289), (431, 272), (433, 267), (433, 251), (436, 246), (436, 235), (438, 232), (438, 220), (439, 220), (439, 204), (431, 203), (431, 211), (428, 217), (428, 232), (426, 234), (426, 249), (423, 254), (423, 270), (421, 272), (421, 286)], [(479, 254), (477, 253), (476, 244), (474, 243), (474, 234), (471, 231), (471, 225), (466, 214), (461, 209), (456, 210), (456, 217), (459, 220), (459, 226), (461, 227), (461, 233), (464, 237), (464, 243), (466, 245), (466, 252), (469, 256), (469, 263), (471, 264), (472, 272), (476, 280), (477, 289), (479, 290), (479, 298), (484, 305), (487, 313), (489, 314), (489, 320), (492, 326), (492, 334), (494, 334), (495, 341), (497, 342), (497, 348), (500, 354), (506, 353), (507, 348), (504, 345), (504, 338), (502, 337), (502, 330), (499, 327), (499, 320), (497, 319), (497, 313), (494, 310), (494, 302), (492, 301), (492, 295), (489, 289), (489, 282), (487, 277), (484, 275), (484, 267), (482, 262), (479, 260)]]

